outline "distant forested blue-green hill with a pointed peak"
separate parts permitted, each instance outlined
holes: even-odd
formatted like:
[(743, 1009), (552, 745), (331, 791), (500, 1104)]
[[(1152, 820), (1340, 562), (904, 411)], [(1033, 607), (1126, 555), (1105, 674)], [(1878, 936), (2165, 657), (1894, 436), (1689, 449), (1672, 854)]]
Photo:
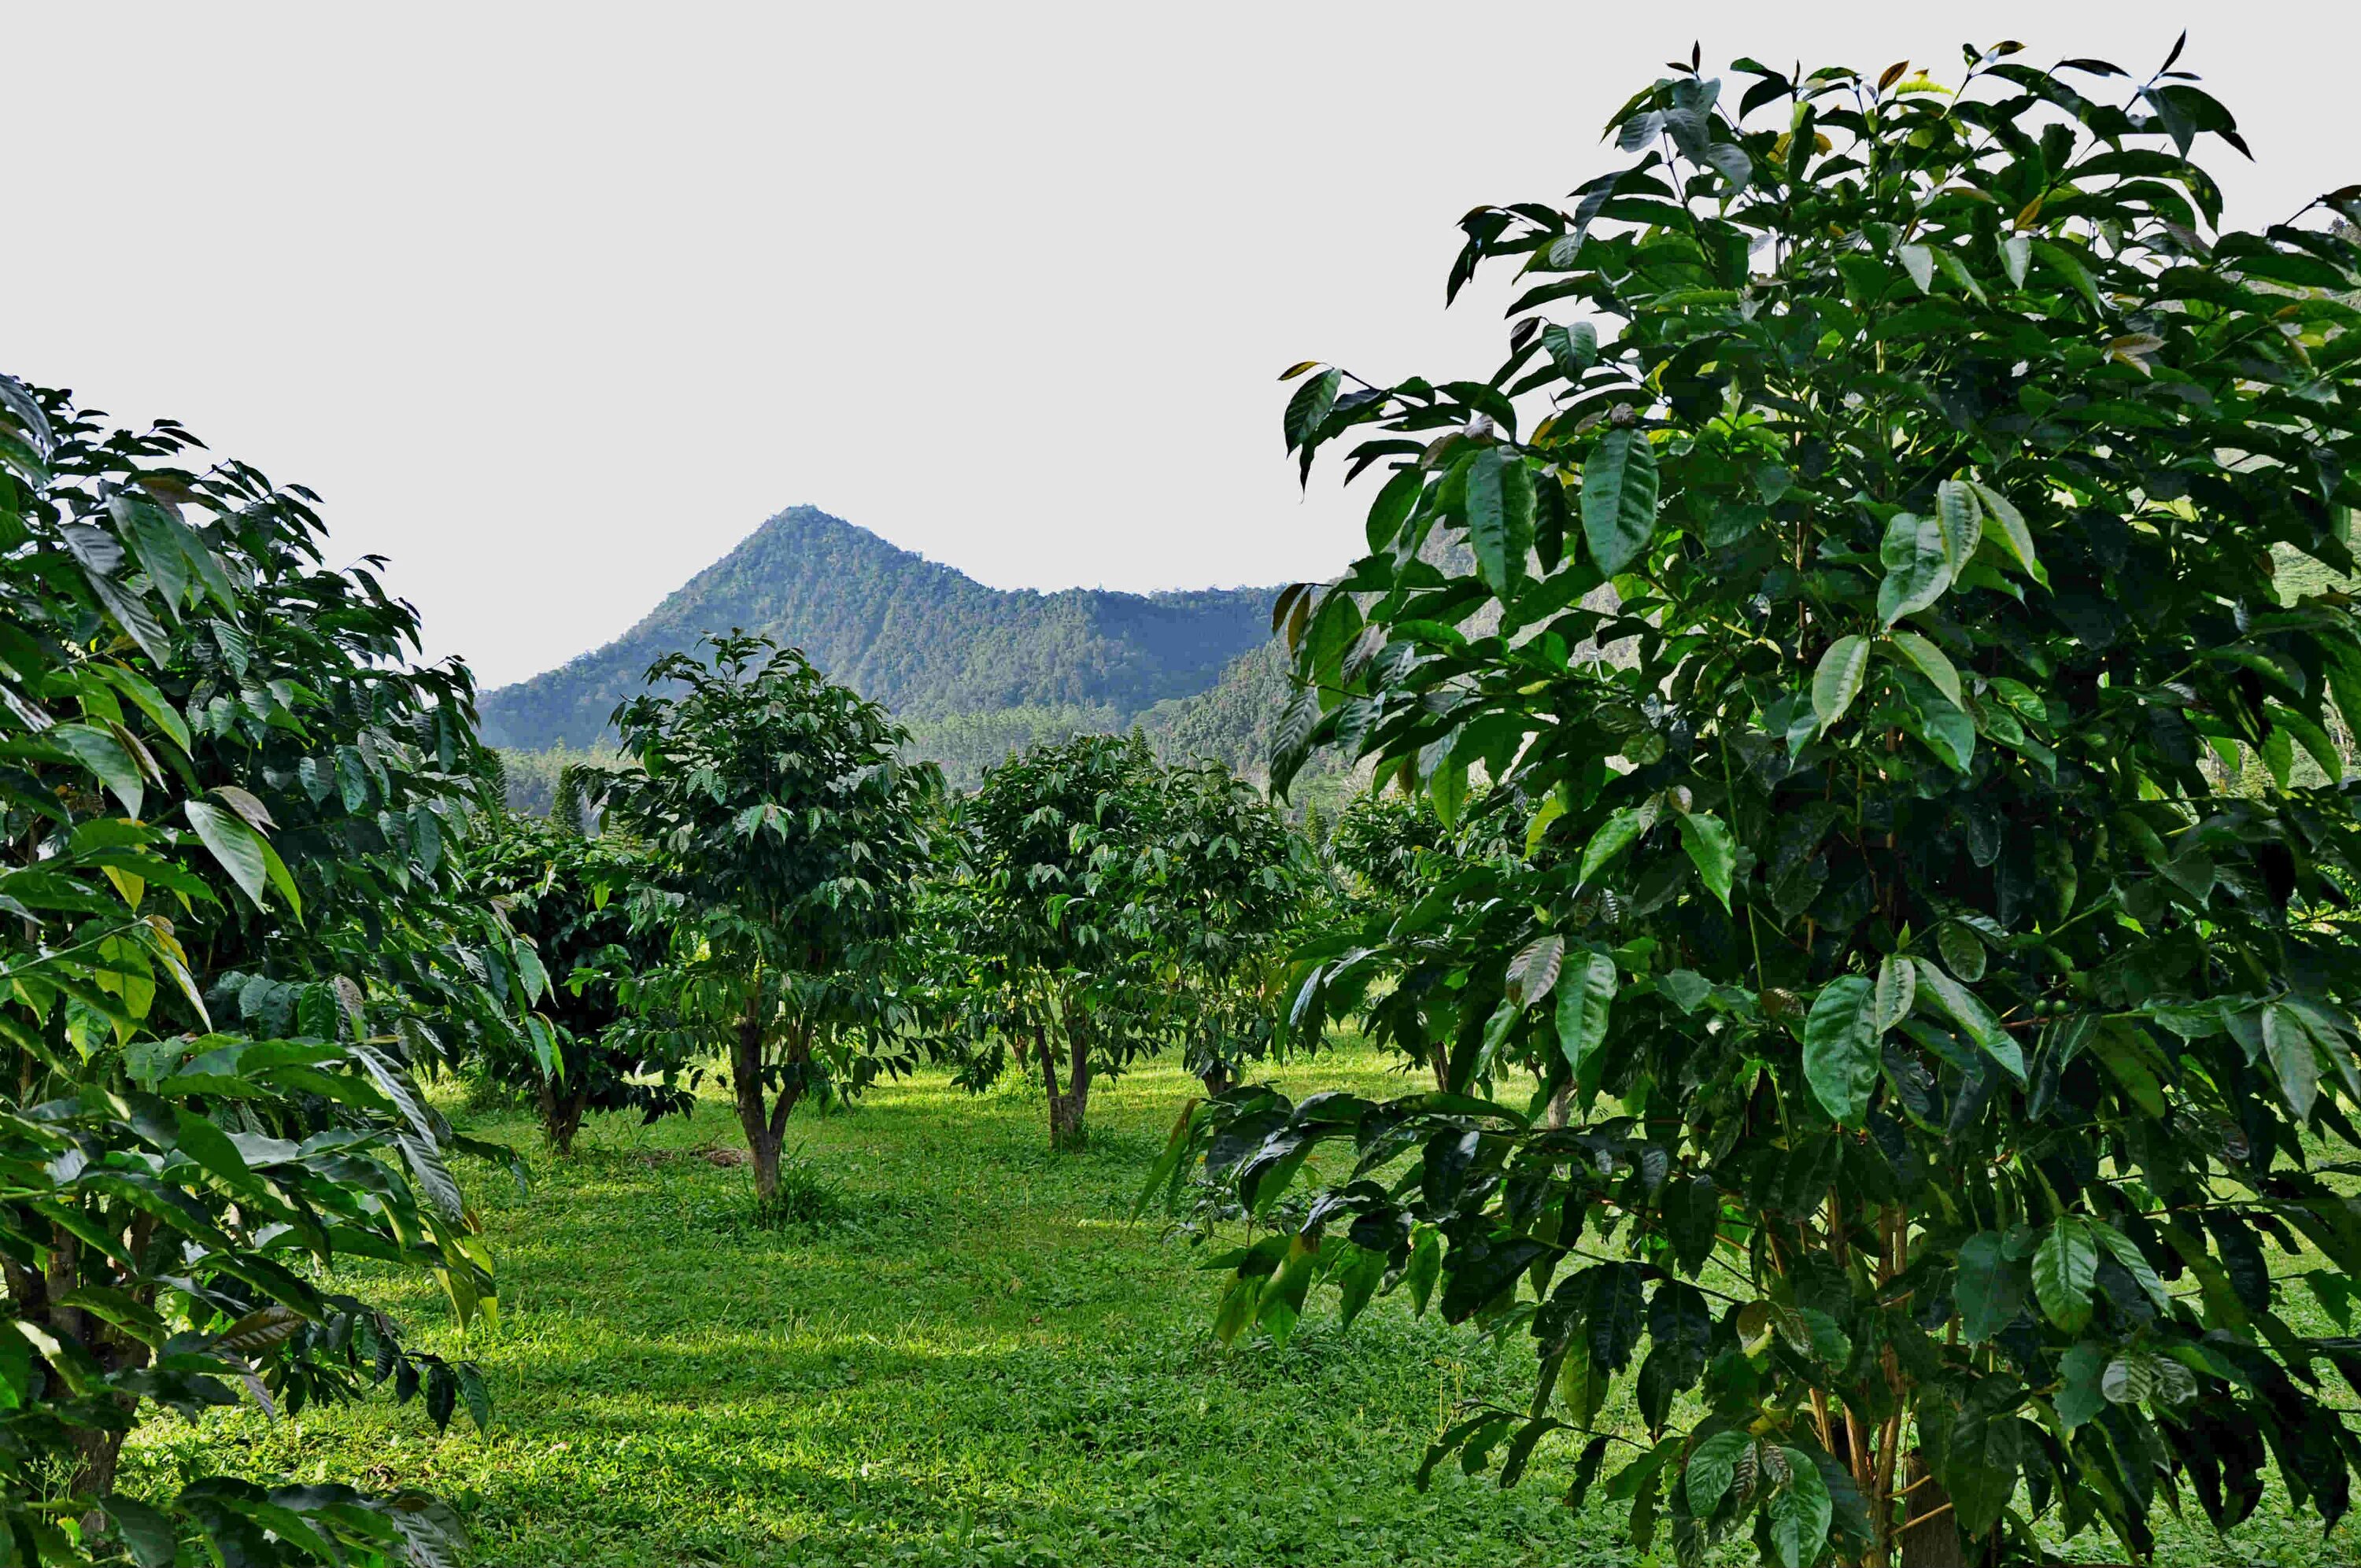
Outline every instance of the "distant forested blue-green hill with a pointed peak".
[(531, 680), (486, 692), (484, 739), (595, 746), (659, 656), (741, 626), (800, 647), (895, 708), (921, 756), (973, 777), (1013, 746), (1126, 730), (1209, 692), (1270, 638), (1273, 588), (1060, 593), (985, 588), (807, 505), (779, 512), (645, 621)]

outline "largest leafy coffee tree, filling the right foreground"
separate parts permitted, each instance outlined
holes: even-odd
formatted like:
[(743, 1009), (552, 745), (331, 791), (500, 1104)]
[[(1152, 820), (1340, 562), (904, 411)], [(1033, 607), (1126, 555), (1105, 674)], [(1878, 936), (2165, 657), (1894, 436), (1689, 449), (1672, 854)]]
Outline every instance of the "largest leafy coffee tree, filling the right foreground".
[(1275, 777), (1339, 746), (1532, 852), (1301, 954), (1443, 1091), (1199, 1112), (1254, 1209), (1339, 1162), (1218, 1329), (1332, 1280), (1516, 1334), (1530, 1403), (1426, 1466), (1561, 1452), (1681, 1561), (2146, 1556), (2269, 1471), (2333, 1525), (2361, 628), (2276, 562), (2352, 571), (2361, 191), (2222, 229), (2174, 61), (1695, 66), (1464, 220), (1452, 290), (1523, 283), (1490, 378), (1294, 373), (1306, 468), (1384, 484), (1282, 602)]

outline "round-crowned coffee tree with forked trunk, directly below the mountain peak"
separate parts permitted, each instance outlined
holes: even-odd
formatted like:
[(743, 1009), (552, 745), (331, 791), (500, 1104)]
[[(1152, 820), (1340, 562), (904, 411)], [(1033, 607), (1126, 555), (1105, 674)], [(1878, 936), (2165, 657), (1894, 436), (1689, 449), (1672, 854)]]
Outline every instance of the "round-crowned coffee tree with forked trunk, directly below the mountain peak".
[(666, 961), (623, 987), (626, 1046), (687, 1060), (727, 1041), (756, 1197), (779, 1190), (786, 1119), (812, 1091), (857, 1093), (911, 1065), (914, 1018), (890, 985), (926, 805), (909, 732), (767, 638), (671, 654), (614, 713), (628, 767), (590, 791), (656, 855), (633, 919), (668, 933)]

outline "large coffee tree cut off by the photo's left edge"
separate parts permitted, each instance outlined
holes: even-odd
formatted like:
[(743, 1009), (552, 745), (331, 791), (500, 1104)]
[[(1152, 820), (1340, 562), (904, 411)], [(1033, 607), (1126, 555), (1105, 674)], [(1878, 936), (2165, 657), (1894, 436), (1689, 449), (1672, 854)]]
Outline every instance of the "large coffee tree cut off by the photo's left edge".
[(319, 569), (305, 491), (191, 446), (0, 378), (5, 1551), (446, 1561), (456, 1518), (420, 1495), (116, 1485), (156, 1407), (392, 1379), (437, 1424), (489, 1419), (472, 1367), (323, 1278), (375, 1259), (432, 1270), (463, 1325), (493, 1306), (444, 1164), (465, 1141), (408, 1072), (508, 1015), (456, 954), (510, 937), (458, 919), (437, 852), (472, 687), (399, 664), (416, 616)]

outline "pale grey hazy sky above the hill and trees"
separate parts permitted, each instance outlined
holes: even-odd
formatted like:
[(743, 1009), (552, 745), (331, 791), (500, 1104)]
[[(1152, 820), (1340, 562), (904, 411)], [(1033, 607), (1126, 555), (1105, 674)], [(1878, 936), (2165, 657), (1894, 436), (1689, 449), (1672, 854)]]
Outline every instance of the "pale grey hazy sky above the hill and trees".
[(1608, 168), (1702, 35), (1950, 76), (1962, 28), (2184, 66), (2361, 179), (2354, 5), (54, 5), (0, 0), (0, 368), (326, 496), (486, 685), (826, 508), (1006, 588), (1325, 576), (1275, 373), (1487, 373), (1454, 220)]

